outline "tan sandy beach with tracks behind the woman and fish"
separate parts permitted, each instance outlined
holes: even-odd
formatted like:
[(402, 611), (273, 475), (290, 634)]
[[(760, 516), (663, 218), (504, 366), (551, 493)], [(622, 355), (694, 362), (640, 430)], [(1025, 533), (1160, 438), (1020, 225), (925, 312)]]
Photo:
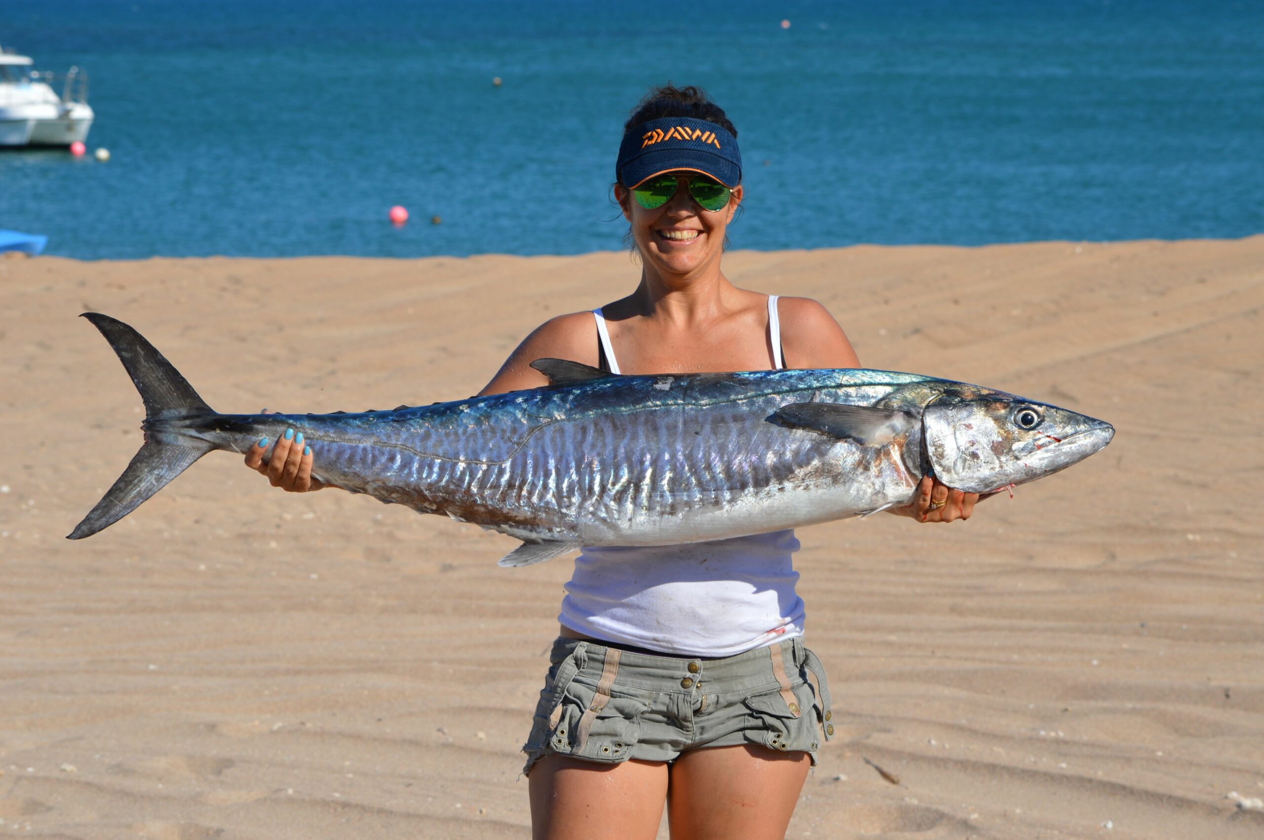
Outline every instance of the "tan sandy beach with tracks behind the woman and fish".
[[(1117, 428), (964, 524), (800, 532), (841, 736), (787, 836), (1264, 836), (1264, 236), (724, 265), (825, 303), (871, 368)], [(0, 835), (530, 836), (518, 749), (570, 560), (498, 568), (506, 537), (222, 453), (68, 542), (143, 417), (76, 316), (131, 323), (220, 411), (391, 408), (474, 393), (637, 272), (0, 259)]]

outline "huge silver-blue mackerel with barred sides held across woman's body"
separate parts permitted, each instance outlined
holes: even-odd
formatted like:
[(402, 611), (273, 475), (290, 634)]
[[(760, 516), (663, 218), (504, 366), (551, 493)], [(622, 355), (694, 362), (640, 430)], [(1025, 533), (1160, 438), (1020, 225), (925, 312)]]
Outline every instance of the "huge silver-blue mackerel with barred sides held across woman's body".
[(994, 493), (1106, 446), (1102, 421), (999, 390), (881, 370), (619, 376), (532, 366), (551, 387), (418, 408), (219, 414), (140, 333), (85, 313), (145, 405), (145, 441), (70, 534), (90, 537), (212, 450), (302, 432), (315, 475), (517, 537), (526, 566), (579, 546), (660, 546), (865, 515), (920, 479)]

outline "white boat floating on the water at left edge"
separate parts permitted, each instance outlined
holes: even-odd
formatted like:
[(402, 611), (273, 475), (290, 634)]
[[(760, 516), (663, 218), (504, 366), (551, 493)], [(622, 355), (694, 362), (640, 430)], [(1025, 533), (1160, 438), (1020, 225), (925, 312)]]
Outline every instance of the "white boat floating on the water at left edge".
[[(0, 51), (0, 147), (70, 145), (87, 139), (92, 109), (87, 73), (37, 71), (25, 56)], [(53, 86), (61, 82), (58, 96)]]

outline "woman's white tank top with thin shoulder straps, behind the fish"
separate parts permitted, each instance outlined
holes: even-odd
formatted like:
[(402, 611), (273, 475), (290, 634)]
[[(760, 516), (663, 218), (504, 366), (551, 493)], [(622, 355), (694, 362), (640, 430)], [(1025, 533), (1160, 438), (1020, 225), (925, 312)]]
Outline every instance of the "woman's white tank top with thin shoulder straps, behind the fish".
[[(619, 373), (605, 318), (597, 332)], [(769, 341), (781, 359), (777, 298)], [(803, 635), (794, 531), (679, 546), (589, 546), (575, 558), (557, 620), (594, 639), (679, 656), (727, 657)]]

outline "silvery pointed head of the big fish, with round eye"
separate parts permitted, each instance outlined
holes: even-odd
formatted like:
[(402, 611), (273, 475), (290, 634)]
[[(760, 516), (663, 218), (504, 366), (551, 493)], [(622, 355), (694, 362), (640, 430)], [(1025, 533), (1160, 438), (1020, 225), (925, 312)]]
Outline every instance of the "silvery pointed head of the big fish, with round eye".
[(935, 477), (966, 493), (994, 493), (1044, 477), (1110, 443), (1100, 419), (1001, 392), (944, 394), (921, 416)]

